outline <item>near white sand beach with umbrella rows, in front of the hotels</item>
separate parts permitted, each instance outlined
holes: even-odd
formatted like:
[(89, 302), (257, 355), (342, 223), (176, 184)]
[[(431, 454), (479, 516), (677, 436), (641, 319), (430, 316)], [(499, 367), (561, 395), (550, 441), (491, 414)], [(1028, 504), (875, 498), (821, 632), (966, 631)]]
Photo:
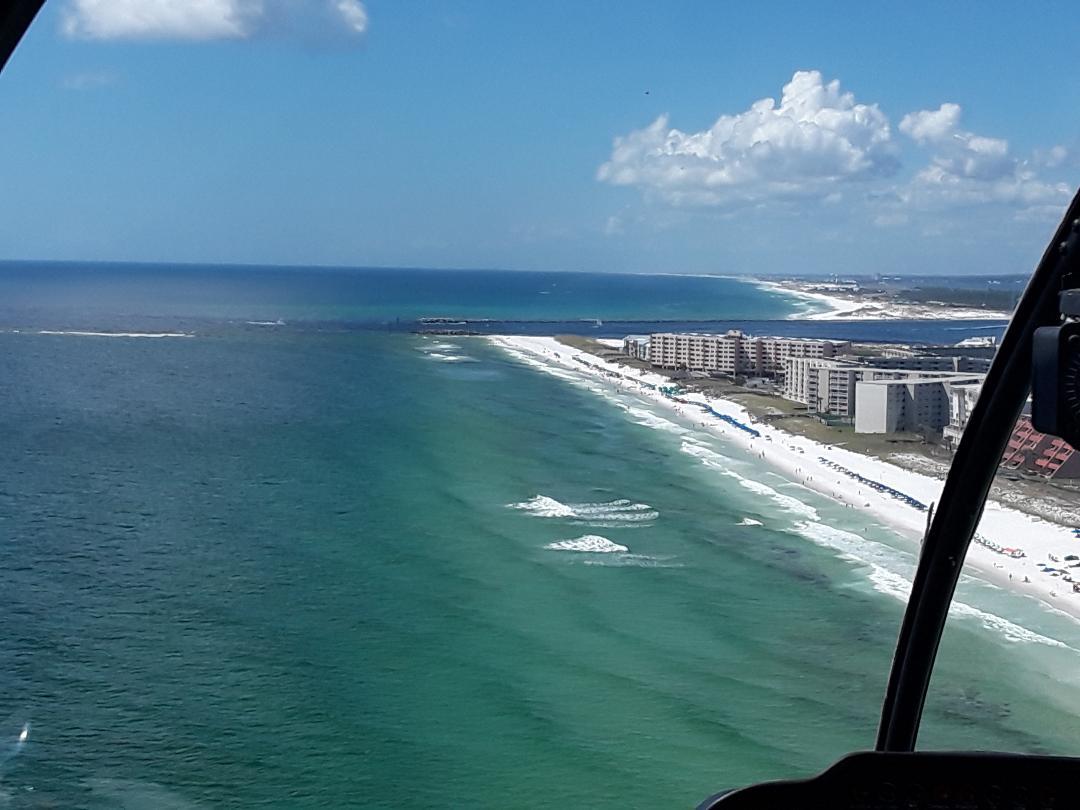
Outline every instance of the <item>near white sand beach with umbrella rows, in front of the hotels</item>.
[[(691, 393), (679, 403), (647, 388), (649, 384), (673, 384), (662, 375), (650, 372), (633, 374), (625, 366), (573, 349), (555, 338), (492, 336), (486, 339), (511, 355), (527, 357), (551, 373), (561, 367), (571, 369), (596, 380), (617, 384), (643, 400), (664, 405), (685, 417), (688, 407), (707, 406), (712, 414), (698, 411), (697, 408), (692, 411), (692, 420), (697, 424), (691, 434), (719, 436), (744, 451), (753, 453), (772, 472), (789, 482), (859, 510), (872, 521), (888, 526), (912, 541), (912, 551), (918, 549), (927, 514), (897, 495), (902, 494), (924, 504), (936, 502), (941, 496), (941, 478), (906, 470), (877, 457), (788, 433), (768, 422), (755, 420), (734, 402)], [(867, 482), (880, 484), (885, 489), (876, 489)], [(972, 571), (978, 573), (978, 578), (1014, 594), (1034, 598), (1045, 609), (1080, 621), (1080, 593), (1072, 592), (1071, 583), (1043, 572), (1039, 565), (1044, 563), (1058, 570), (1069, 570), (1064, 568), (1065, 563), (1054, 563), (1049, 555), (1052, 554), (1059, 561), (1064, 561), (1066, 555), (1080, 555), (1080, 540), (1072, 536), (1070, 529), (1026, 515), (996, 501), (987, 501), (978, 536), (991, 545), (1001, 549), (1016, 546), (1025, 554), (1023, 557), (1012, 557), (972, 542), (964, 562)], [(1075, 570), (1080, 581), (1080, 568)], [(1071, 573), (1069, 571), (1070, 576)]]

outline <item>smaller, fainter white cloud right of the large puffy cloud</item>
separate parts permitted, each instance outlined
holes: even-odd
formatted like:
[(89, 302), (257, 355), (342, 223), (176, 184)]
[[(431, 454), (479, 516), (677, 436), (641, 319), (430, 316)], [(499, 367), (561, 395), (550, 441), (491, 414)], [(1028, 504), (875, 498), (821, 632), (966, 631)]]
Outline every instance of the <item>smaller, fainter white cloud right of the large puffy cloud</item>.
[[(1040, 179), (1036, 161), (1014, 156), (1008, 140), (961, 129), (961, 113), (960, 105), (943, 104), (936, 110), (909, 112), (901, 120), (900, 131), (931, 152), (930, 164), (905, 191), (909, 201), (1029, 206), (1068, 200), (1068, 186)], [(1065, 158), (1061, 147), (1048, 154), (1044, 165)]]

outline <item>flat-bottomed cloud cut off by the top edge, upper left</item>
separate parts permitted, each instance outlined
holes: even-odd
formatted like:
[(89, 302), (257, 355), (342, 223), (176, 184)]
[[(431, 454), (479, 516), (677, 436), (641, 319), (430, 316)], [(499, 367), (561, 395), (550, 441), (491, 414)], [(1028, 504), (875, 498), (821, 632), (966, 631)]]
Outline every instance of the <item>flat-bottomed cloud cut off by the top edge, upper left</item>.
[(69, 0), (60, 26), (72, 39), (201, 41), (247, 39), (282, 19), (367, 30), (360, 0)]

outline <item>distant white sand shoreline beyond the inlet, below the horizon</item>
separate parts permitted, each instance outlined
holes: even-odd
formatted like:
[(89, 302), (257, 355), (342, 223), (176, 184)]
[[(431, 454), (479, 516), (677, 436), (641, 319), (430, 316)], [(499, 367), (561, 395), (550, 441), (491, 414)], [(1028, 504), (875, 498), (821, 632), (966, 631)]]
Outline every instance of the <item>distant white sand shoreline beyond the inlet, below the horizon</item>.
[(744, 281), (759, 289), (781, 293), (815, 307), (816, 312), (788, 315), (789, 321), (1008, 321), (1011, 312), (950, 307), (935, 303), (861, 300), (858, 295), (828, 295), (804, 289), (799, 282), (771, 281), (746, 276)]

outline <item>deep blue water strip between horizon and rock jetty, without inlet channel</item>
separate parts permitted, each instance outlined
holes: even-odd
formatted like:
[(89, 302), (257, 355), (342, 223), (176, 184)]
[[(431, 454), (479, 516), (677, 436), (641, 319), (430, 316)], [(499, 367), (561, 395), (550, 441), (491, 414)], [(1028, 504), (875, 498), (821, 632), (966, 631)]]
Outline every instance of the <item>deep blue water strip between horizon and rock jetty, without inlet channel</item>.
[(0, 265), (0, 302), (2, 316), (45, 306), (72, 325), (153, 316), (372, 327), (421, 318), (775, 318), (796, 309), (784, 296), (701, 276), (52, 262)]

